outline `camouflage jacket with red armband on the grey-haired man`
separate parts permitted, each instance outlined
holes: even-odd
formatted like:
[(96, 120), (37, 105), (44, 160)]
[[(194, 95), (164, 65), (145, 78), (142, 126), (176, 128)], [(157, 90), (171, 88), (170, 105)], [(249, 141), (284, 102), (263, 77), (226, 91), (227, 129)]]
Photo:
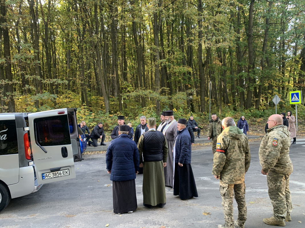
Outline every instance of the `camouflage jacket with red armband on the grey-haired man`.
[(251, 161), (247, 136), (237, 126), (229, 126), (217, 137), (212, 174), (226, 184), (245, 180)]

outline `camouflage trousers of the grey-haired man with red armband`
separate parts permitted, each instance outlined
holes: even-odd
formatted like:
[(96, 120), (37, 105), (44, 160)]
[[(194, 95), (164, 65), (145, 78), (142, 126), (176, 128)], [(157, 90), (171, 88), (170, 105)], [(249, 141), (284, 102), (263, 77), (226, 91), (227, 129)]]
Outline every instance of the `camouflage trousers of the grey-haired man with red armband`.
[(222, 206), (224, 208), (224, 226), (226, 228), (234, 228), (233, 219), (233, 196), (237, 202), (238, 208), (238, 224), (239, 227), (245, 227), (247, 220), (247, 206), (246, 206), (246, 185), (245, 182), (240, 184), (226, 184), (220, 181), (219, 187), (222, 198)]

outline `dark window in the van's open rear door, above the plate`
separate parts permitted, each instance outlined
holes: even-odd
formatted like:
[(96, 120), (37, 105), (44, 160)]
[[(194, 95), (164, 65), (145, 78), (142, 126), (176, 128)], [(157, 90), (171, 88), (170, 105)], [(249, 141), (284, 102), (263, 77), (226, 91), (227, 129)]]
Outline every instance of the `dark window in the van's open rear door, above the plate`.
[(66, 115), (34, 119), (35, 140), (41, 146), (71, 144), (68, 118)]

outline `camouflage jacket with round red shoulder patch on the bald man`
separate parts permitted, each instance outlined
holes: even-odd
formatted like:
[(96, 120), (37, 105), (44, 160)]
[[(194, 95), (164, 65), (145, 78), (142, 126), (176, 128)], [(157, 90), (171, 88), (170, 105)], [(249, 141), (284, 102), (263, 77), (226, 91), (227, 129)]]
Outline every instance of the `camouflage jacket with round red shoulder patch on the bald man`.
[(258, 151), (260, 165), (265, 173), (292, 173), (293, 167), (289, 157), (290, 133), (284, 125), (267, 129), (267, 134), (260, 143)]

